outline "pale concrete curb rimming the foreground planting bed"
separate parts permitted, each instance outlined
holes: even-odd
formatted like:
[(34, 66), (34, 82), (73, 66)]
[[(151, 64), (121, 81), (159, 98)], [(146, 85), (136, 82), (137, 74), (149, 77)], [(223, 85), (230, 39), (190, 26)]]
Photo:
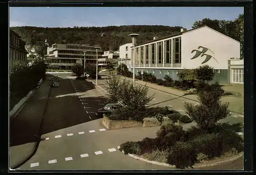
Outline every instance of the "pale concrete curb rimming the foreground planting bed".
[[(117, 146), (117, 148), (119, 149), (120, 146)], [(124, 154), (124, 151), (121, 151), (123, 154)], [(208, 167), (208, 166), (215, 166), (215, 165), (219, 165), (219, 164), (222, 164), (222, 163), (226, 163), (226, 162), (232, 162), (234, 160), (237, 160), (239, 158), (241, 158), (242, 156), (244, 155), (244, 152), (241, 152), (239, 155), (237, 156), (233, 156), (229, 159), (226, 159), (226, 160), (222, 160), (222, 161), (218, 161), (218, 162), (215, 162), (215, 163), (204, 163), (204, 164), (195, 164), (193, 166), (193, 168), (203, 168), (203, 167)], [(143, 162), (147, 162), (147, 163), (151, 163), (151, 164), (154, 164), (154, 165), (160, 165), (160, 166), (166, 166), (166, 167), (171, 167), (171, 168), (175, 168), (175, 165), (169, 165), (167, 163), (161, 163), (161, 162), (157, 162), (157, 161), (150, 161), (150, 160), (147, 160), (145, 158), (141, 158), (135, 154), (130, 154), (128, 153), (128, 156), (134, 158), (134, 159), (137, 159), (137, 160), (141, 160)]]

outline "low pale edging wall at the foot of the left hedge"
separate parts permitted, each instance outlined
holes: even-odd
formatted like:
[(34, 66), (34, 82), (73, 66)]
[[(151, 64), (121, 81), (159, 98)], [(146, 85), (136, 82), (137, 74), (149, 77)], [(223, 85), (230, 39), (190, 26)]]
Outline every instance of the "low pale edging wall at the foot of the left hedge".
[(41, 86), (41, 84), (42, 84), (42, 79), (40, 79), (40, 81), (38, 82), (38, 85), (35, 88), (35, 90), (30, 91), (27, 94), (27, 96), (20, 99), (20, 101), (13, 107), (13, 109), (9, 112), (10, 120), (13, 120), (18, 115), (18, 113), (26, 106), (29, 99), (33, 96), (36, 89), (38, 89)]

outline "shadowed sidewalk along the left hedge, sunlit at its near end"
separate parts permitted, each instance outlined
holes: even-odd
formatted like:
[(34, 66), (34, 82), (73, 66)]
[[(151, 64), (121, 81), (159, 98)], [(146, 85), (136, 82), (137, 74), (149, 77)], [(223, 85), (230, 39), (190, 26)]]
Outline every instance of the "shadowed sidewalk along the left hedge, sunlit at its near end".
[(10, 166), (14, 166), (30, 154), (38, 135), (42, 115), (50, 93), (51, 76), (35, 91), (25, 107), (10, 121)]

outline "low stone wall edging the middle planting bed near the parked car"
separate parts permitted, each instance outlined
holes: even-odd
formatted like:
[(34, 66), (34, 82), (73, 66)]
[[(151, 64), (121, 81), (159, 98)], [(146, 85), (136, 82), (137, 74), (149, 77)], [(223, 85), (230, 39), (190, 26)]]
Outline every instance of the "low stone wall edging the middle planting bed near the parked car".
[[(165, 124), (167, 122), (172, 122), (172, 120), (164, 118), (164, 121), (162, 124)], [(102, 124), (108, 130), (117, 130), (117, 129), (141, 127), (141, 126), (142, 127), (157, 127), (157, 126), (161, 125), (161, 123), (157, 120), (144, 119), (143, 123), (140, 123), (138, 121), (133, 121), (133, 120), (131, 120), (131, 121), (110, 120), (105, 115), (102, 118)]]

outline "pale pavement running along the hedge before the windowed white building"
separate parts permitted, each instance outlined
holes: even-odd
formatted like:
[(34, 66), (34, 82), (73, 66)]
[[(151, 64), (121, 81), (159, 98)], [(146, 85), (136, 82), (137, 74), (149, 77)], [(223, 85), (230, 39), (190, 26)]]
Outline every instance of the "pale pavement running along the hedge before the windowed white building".
[[(133, 81), (132, 78), (127, 78), (127, 77), (123, 77), (123, 76), (119, 76), (120, 79), (123, 80), (129, 80), (129, 81)], [(170, 93), (173, 95), (177, 95), (177, 96), (182, 96), (183, 98), (189, 99), (191, 101), (198, 101), (198, 97), (197, 95), (193, 95), (193, 94), (189, 94), (187, 95), (186, 93), (188, 92), (184, 92), (178, 89), (174, 89), (174, 88), (170, 88), (170, 87), (165, 87), (165, 86), (159, 86), (157, 84), (153, 84), (150, 82), (141, 82), (141, 80), (135, 80), (136, 84), (139, 85), (147, 85), (149, 88), (158, 90), (158, 91), (162, 91), (162, 92), (166, 92), (166, 93)], [(244, 108), (244, 98), (242, 97), (237, 97), (237, 96), (223, 96), (221, 98), (222, 103), (228, 102), (229, 103), (229, 110), (231, 112), (234, 113), (238, 113), (238, 114), (242, 114), (243, 115), (243, 108)]]

